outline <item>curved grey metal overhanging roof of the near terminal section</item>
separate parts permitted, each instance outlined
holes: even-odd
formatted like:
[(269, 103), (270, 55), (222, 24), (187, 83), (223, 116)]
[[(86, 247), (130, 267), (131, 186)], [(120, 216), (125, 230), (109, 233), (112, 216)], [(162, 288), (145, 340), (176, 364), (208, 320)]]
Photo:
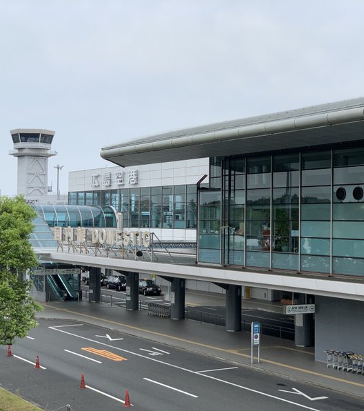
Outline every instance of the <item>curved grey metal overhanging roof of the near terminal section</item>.
[(364, 136), (364, 97), (212, 123), (107, 146), (119, 166), (307, 148)]

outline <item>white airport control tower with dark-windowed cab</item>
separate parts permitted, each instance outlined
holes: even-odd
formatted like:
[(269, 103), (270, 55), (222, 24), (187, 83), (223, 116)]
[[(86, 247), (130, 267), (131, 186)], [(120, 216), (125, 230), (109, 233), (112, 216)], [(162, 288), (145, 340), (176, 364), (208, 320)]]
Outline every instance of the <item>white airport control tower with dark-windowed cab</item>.
[(17, 128), (11, 130), (14, 150), (9, 154), (18, 157), (17, 194), (25, 194), (26, 199), (37, 201), (48, 193), (48, 157), (51, 151), (54, 131)]

